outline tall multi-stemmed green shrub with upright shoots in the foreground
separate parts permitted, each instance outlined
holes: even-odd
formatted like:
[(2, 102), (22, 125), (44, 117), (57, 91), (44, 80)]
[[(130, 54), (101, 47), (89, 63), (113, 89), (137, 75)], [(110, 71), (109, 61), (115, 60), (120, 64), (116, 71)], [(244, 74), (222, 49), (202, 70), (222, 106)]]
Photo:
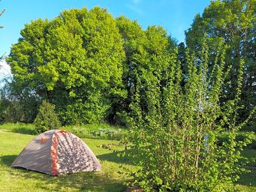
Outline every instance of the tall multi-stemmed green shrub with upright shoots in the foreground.
[[(225, 43), (219, 43), (211, 71), (205, 41), (200, 59), (186, 50), (186, 77), (177, 50), (170, 63), (169, 58), (161, 62), (165, 73), (142, 68), (135, 74), (130, 139), (132, 156), (142, 168), (132, 176), (146, 191), (228, 191), (245, 171), (240, 151), (250, 138), (235, 141), (243, 125), (237, 119), (244, 62), (240, 60), (235, 97), (220, 105), (230, 70), (224, 70)], [(218, 134), (227, 129), (228, 142), (218, 145)]]

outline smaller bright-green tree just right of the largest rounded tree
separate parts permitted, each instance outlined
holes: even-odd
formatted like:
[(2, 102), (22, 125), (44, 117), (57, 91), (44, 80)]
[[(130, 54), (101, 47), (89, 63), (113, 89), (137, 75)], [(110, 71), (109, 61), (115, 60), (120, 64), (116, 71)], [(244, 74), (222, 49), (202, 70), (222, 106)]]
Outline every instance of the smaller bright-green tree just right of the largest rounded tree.
[[(145, 92), (149, 89), (146, 82), (138, 87), (145, 71), (150, 71), (158, 76), (168, 70), (171, 50), (176, 42), (161, 26), (149, 26), (146, 31), (136, 21), (131, 21), (124, 16), (117, 18), (117, 26), (121, 33), (126, 60), (124, 63), (123, 82), (127, 90), (127, 99), (122, 102), (124, 114), (129, 113), (135, 92), (139, 89)], [(146, 97), (142, 99), (146, 104)], [(146, 110), (146, 106), (145, 106)]]

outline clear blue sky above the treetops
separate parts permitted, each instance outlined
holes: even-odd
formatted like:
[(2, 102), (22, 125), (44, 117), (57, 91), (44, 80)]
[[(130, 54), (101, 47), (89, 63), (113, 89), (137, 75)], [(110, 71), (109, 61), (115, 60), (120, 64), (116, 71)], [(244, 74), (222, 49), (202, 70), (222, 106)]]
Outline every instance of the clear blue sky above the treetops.
[[(178, 42), (185, 40), (184, 31), (191, 26), (196, 14), (202, 14), (210, 0), (1, 0), (0, 56), (10, 53), (17, 43), (24, 24), (38, 18), (53, 19), (63, 10), (94, 6), (107, 8), (112, 16), (127, 16), (142, 28), (163, 26)], [(0, 74), (3, 73), (0, 71)]]

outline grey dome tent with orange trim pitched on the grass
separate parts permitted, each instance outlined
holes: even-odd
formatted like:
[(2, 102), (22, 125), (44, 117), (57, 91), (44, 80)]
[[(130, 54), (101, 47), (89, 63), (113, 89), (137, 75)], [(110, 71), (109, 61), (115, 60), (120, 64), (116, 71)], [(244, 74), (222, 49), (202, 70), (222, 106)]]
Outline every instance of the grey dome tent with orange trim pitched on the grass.
[(39, 134), (21, 151), (11, 166), (52, 176), (101, 171), (100, 163), (89, 146), (74, 134), (59, 129)]

